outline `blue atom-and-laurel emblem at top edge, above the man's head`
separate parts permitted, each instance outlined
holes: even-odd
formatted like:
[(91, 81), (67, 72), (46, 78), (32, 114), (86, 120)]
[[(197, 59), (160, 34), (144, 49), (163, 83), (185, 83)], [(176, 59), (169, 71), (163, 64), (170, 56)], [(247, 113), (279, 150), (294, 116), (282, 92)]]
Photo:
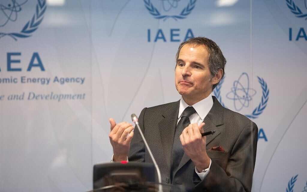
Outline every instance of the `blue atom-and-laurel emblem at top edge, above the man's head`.
[[(186, 18), (194, 9), (196, 0), (188, 0), (188, 4), (185, 7), (180, 7), (181, 0), (159, 0), (157, 2), (161, 3), (163, 13), (153, 5), (150, 0), (144, 0), (146, 9), (151, 15), (156, 19), (163, 19), (165, 21), (168, 18), (173, 18), (176, 21), (178, 19)], [(182, 2), (181, 2), (182, 4)]]

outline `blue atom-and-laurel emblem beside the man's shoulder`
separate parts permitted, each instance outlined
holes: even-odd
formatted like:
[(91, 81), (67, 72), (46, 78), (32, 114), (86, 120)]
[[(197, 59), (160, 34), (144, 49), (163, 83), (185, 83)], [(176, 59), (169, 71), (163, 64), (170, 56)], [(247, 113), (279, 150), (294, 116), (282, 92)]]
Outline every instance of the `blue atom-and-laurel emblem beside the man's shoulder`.
[[(245, 114), (248, 118), (256, 119), (259, 115), (262, 114), (266, 108), (267, 102), (269, 100), (269, 88), (266, 81), (257, 76), (258, 83), (260, 84), (262, 90), (261, 101), (258, 106), (253, 109), (249, 114)], [(220, 84), (216, 86), (213, 93), (216, 98), (220, 101), (223, 107), (227, 108), (224, 104), (221, 96), (221, 88), (224, 79), (220, 81)], [(243, 108), (248, 108), (250, 102), (253, 100), (253, 97), (256, 95), (256, 90), (250, 87), (249, 77), (246, 72), (243, 72), (238, 80), (235, 80), (230, 88), (230, 91), (226, 94), (226, 98), (233, 101), (234, 108), (237, 112), (241, 111)]]

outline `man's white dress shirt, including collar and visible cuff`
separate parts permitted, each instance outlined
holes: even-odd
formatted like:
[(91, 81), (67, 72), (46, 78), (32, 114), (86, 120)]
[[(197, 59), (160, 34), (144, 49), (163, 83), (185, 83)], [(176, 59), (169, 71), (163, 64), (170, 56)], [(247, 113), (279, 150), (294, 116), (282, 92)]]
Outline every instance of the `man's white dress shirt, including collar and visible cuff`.
[[(203, 121), (204, 118), (208, 115), (209, 111), (211, 110), (213, 106), (213, 99), (212, 99), (212, 95), (210, 94), (208, 97), (204, 98), (203, 100), (197, 102), (196, 104), (192, 105), (192, 107), (195, 109), (195, 113), (193, 113), (189, 119), (191, 123), (197, 123), (198, 125), (200, 125)], [(179, 122), (179, 120), (181, 119), (182, 113), (185, 110), (185, 108), (189, 107), (188, 104), (185, 103), (185, 100), (183, 100), (183, 98), (181, 97), (180, 100), (180, 105), (179, 105), (179, 113), (178, 113), (178, 120), (177, 120), (177, 124)], [(211, 159), (210, 159), (210, 164), (209, 164), (209, 169), (204, 172), (204, 173), (199, 173), (195, 167), (195, 171), (196, 174), (198, 175), (198, 177), (203, 180), (207, 174), (210, 171), (210, 167), (211, 167)]]

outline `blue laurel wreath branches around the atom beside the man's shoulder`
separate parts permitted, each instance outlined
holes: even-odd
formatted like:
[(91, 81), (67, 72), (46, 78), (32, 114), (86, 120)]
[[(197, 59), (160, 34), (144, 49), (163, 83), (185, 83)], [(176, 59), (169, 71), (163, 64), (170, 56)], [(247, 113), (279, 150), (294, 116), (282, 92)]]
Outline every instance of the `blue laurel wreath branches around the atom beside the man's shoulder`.
[[(258, 107), (256, 107), (251, 114), (245, 115), (245, 116), (247, 116), (248, 118), (251, 118), (251, 119), (256, 119), (259, 115), (261, 115), (263, 110), (266, 108), (267, 102), (269, 100), (270, 90), (268, 89), (266, 82), (263, 80), (263, 78), (260, 78), (259, 76), (257, 76), (257, 78), (258, 78), (258, 82), (261, 85), (262, 97), (261, 97), (261, 102), (259, 103)], [(224, 80), (222, 79), (220, 81), (220, 84), (218, 84), (216, 86), (216, 88), (213, 90), (213, 93), (216, 96), (217, 100), (219, 100), (220, 104), (224, 108), (227, 108), (225, 106), (225, 104), (223, 103), (222, 97), (221, 97), (221, 87), (222, 87), (223, 82), (224, 82)]]

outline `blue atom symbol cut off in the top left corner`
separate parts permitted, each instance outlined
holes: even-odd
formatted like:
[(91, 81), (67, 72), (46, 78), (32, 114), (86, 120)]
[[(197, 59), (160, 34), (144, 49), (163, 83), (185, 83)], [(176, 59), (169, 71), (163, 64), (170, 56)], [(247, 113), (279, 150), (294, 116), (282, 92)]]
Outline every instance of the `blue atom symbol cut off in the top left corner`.
[[(0, 2), (0, 11), (4, 15), (4, 21), (0, 17), (0, 27), (6, 25), (7, 22), (15, 22), (17, 20), (17, 13), (21, 11), (21, 6), (24, 5), (28, 0), (18, 3), (16, 0), (11, 0), (6, 3)], [(1, 13), (0, 12), (0, 13)]]

